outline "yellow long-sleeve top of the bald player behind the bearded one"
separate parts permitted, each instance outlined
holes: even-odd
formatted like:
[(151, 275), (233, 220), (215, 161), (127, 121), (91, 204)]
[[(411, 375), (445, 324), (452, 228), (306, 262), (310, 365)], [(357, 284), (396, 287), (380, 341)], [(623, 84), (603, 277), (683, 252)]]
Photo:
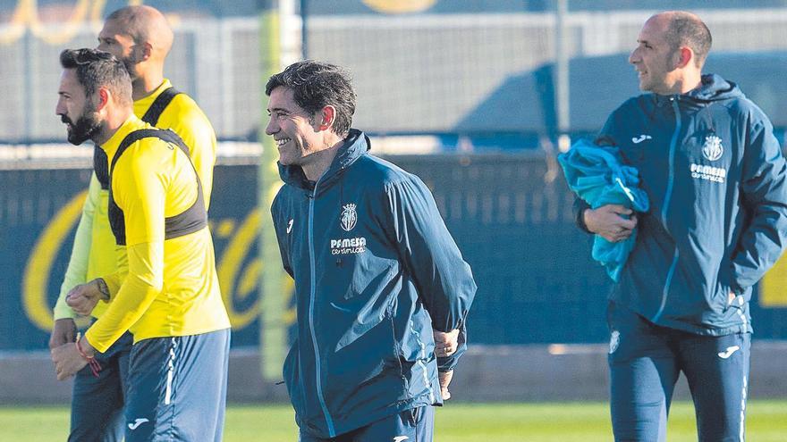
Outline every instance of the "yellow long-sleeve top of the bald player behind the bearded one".
[[(165, 89), (172, 83), (165, 79), (153, 93), (134, 102), (134, 114), (142, 118)], [(197, 103), (186, 94), (178, 94), (158, 117), (157, 128), (172, 129), (189, 147), (191, 163), (202, 181), (206, 207), (213, 187), (213, 166), (216, 163), (216, 133)], [(99, 185), (95, 174), (90, 179), (88, 196), (74, 238), (71, 259), (65, 271), (60, 296), (55, 304), (55, 320), (74, 318), (76, 313), (65, 304), (65, 296), (79, 284), (96, 279), (117, 269), (116, 254), (125, 255), (123, 247), (115, 250), (114, 236), (109, 228), (106, 207), (109, 192)], [(91, 313), (100, 318), (107, 303), (99, 302)]]

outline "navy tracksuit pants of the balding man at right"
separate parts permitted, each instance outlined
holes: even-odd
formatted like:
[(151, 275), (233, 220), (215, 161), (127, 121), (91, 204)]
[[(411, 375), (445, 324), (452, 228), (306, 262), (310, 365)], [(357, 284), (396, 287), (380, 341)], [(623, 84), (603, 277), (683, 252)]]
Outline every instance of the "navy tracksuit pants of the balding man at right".
[(689, 383), (700, 442), (744, 440), (751, 335), (660, 327), (610, 302), (608, 356), (616, 441), (664, 441), (675, 382)]

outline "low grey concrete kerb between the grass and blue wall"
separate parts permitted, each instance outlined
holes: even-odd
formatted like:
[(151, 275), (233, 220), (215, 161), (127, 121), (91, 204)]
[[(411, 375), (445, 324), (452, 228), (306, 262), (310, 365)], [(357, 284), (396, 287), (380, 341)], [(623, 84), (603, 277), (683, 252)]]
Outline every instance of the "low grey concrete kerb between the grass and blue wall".
[[(457, 368), (453, 401), (606, 401), (605, 345), (471, 346)], [(749, 397), (787, 397), (787, 341), (752, 344)], [(276, 379), (279, 380), (279, 379)], [(71, 381), (58, 382), (47, 351), (0, 352), (0, 405), (68, 404)], [(287, 389), (259, 376), (256, 348), (230, 354), (228, 400), (287, 402)], [(681, 377), (675, 399), (688, 399)]]

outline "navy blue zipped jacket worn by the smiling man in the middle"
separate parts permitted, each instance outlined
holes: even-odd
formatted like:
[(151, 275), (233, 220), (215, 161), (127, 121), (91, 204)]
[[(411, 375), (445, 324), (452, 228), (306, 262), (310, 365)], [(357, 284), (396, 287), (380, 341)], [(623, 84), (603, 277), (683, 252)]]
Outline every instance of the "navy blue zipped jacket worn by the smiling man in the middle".
[(432, 328), (463, 328), (476, 291), (424, 183), (368, 148), (351, 129), (314, 185), (280, 165), (271, 207), (298, 313), (284, 381), (318, 438), (442, 404)]

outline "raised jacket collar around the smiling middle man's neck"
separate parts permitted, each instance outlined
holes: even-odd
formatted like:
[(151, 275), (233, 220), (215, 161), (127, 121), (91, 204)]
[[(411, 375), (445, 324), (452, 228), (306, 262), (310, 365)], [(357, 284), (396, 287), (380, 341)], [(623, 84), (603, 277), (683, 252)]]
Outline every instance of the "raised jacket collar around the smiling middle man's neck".
[[(355, 163), (362, 155), (366, 154), (371, 148), (371, 142), (366, 134), (358, 129), (350, 129), (347, 138), (344, 138), (343, 146), (339, 147), (334, 161), (323, 173), (322, 177), (317, 179), (319, 187), (317, 192), (321, 193), (324, 189), (330, 188), (334, 182), (339, 179), (342, 172)], [(309, 183), (303, 169), (300, 166), (284, 166), (282, 163), (277, 163), (279, 166), (279, 176), (285, 184), (289, 184), (296, 188), (305, 190), (313, 190), (314, 185)]]

